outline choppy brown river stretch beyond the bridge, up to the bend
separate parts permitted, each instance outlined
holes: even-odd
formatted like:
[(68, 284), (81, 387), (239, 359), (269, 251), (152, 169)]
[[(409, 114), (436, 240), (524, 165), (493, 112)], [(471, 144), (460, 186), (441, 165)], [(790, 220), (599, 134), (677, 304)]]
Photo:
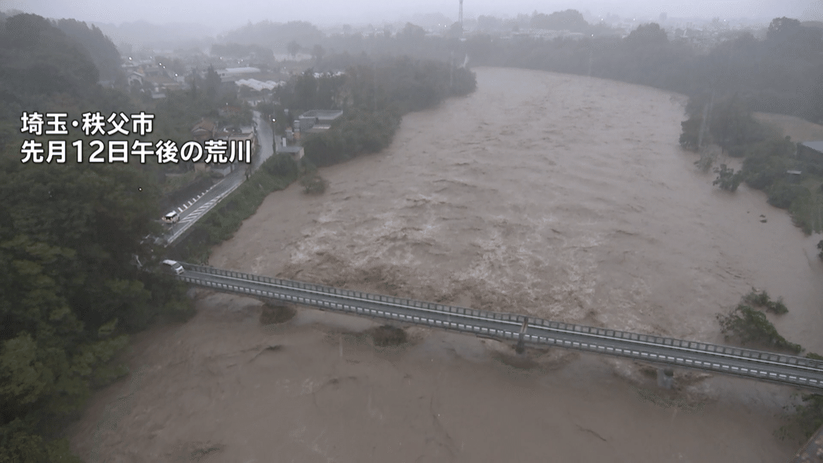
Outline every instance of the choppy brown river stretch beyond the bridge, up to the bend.
[(386, 152), (323, 171), (327, 194), (272, 194), (211, 263), (706, 341), (756, 286), (785, 298), (790, 339), (823, 351), (815, 238), (759, 192), (695, 172), (677, 145), (683, 103), (481, 69), (476, 94), (407, 115)]

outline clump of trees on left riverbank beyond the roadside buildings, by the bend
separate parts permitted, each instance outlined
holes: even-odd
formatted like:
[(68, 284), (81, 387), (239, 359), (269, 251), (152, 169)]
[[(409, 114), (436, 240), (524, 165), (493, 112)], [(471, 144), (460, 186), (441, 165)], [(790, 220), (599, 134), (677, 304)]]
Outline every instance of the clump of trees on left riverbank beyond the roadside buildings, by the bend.
[[(344, 115), (324, 133), (307, 133), (305, 156), (316, 166), (329, 166), (388, 147), (402, 116), (427, 110), (449, 96), (465, 96), (477, 88), (473, 72), (407, 56), (370, 58), (347, 54), (324, 58), (346, 68), (343, 75), (315, 77), (314, 69), (287, 82), (278, 91), (275, 111), (286, 129), (289, 117), (309, 109), (340, 109)], [(288, 114), (292, 116), (286, 116)]]

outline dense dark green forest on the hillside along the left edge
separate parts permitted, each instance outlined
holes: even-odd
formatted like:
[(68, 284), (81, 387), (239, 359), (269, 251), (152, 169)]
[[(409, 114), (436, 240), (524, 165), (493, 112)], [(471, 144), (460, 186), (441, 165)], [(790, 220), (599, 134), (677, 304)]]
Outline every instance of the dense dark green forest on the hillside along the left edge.
[(0, 21), (2, 463), (79, 462), (64, 425), (127, 373), (113, 359), (128, 334), (191, 313), (184, 286), (153, 270), (158, 186), (139, 164), (21, 163), (22, 138), (58, 139), (21, 134), (24, 111), (133, 110), (97, 84), (90, 53), (40, 16)]

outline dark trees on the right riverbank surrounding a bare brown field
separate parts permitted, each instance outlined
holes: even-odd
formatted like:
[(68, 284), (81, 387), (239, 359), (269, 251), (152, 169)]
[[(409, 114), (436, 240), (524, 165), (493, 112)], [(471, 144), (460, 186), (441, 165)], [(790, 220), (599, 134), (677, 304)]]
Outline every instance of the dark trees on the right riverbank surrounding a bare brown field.
[[(823, 56), (811, 52), (823, 47), (821, 37), (819, 28), (778, 18), (765, 40), (743, 34), (718, 44), (709, 53), (714, 62), (704, 63), (714, 77), (703, 91), (689, 94), (680, 137), (686, 149), (699, 151), (714, 143), (728, 156), (742, 158), (740, 171), (725, 165), (716, 170), (714, 185), (734, 191), (742, 181), (760, 189), (807, 234), (823, 232), (823, 156), (803, 154), (790, 138), (757, 122), (752, 111), (823, 120), (823, 101), (804, 96), (823, 91), (823, 80), (810, 77), (820, 75), (813, 69), (823, 69)], [(751, 69), (754, 62), (760, 63), (758, 72)]]

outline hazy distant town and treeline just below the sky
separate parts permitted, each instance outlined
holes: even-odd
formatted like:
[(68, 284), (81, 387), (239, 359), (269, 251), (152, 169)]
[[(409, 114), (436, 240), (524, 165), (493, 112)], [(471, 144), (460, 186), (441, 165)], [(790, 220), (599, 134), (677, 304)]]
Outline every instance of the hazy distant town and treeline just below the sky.
[[(559, 21), (552, 21), (552, 16), (561, 14), (565, 17), (560, 16), (557, 18)], [(118, 45), (128, 86), (139, 87), (139, 91), (146, 96), (159, 99), (165, 97), (166, 91), (186, 89), (190, 86), (193, 72), (205, 77), (207, 68), (212, 66), (221, 77), (221, 82), (228, 87), (236, 87), (239, 96), (251, 105), (269, 101), (268, 96), (277, 87), (285, 85), (289, 77), (303, 72), (324, 54), (348, 51), (334, 48), (334, 44), (341, 41), (349, 44), (391, 38), (458, 38), (462, 41), (478, 37), (512, 41), (583, 40), (603, 36), (624, 38), (638, 26), (654, 22), (666, 31), (669, 40), (685, 42), (695, 49), (708, 52), (715, 45), (732, 40), (744, 31), (761, 39), (768, 29), (768, 21), (677, 18), (669, 17), (664, 12), (658, 17), (649, 18), (616, 15), (584, 17), (582, 13), (569, 10), (551, 15), (532, 13), (509, 18), (477, 16), (457, 22), (449, 21), (448, 17), (440, 14), (420, 15), (417, 19), (420, 24), (395, 22), (382, 26), (339, 25), (324, 29), (302, 21), (285, 24), (264, 21), (213, 38), (189, 39), (175, 37), (164, 26), (143, 25), (146, 28), (151, 26), (152, 32), (159, 31), (160, 34), (141, 34), (140, 23), (97, 26)], [(815, 24), (816, 21), (804, 23), (807, 26)], [(823, 26), (823, 23), (817, 25)], [(263, 29), (279, 29), (274, 35), (288, 35), (291, 31), (295, 39), (272, 40), (266, 47), (259, 44), (265, 39), (255, 40), (252, 34), (244, 33)], [(168, 35), (164, 35), (163, 31)], [(339, 74), (343, 70), (332, 70), (332, 73), (335, 72)], [(115, 85), (114, 81), (101, 83)]]

